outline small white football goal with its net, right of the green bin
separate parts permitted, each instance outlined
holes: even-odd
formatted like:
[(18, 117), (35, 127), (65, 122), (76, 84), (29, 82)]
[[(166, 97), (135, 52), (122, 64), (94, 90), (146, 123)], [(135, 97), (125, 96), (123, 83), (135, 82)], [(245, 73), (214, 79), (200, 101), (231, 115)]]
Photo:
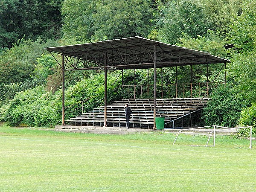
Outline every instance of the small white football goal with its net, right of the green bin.
[[(176, 140), (177, 140), (177, 137), (179, 136), (180, 133), (184, 133), (185, 131), (188, 132), (193, 132), (193, 130), (197, 130), (197, 129), (206, 129), (207, 132), (209, 132), (209, 137), (208, 137), (208, 140), (207, 140), (207, 143), (206, 145), (201, 145), (201, 146), (205, 146), (205, 147), (215, 147), (215, 137), (216, 137), (216, 133), (218, 134), (221, 134), (221, 132), (227, 132), (227, 131), (234, 131), (234, 130), (238, 130), (238, 129), (241, 129), (241, 128), (250, 128), (250, 146), (249, 148), (251, 149), (252, 148), (252, 126), (247, 126), (247, 127), (236, 127), (236, 128), (229, 128), (229, 127), (222, 127), (222, 126), (218, 126), (218, 125), (211, 125), (211, 126), (205, 126), (205, 127), (197, 127), (197, 128), (188, 128), (188, 129), (181, 129), (173, 144), (175, 144)], [(213, 137), (213, 145), (209, 145), (209, 140), (210, 138)], [(195, 145), (194, 145), (195, 146)], [(200, 146), (200, 145), (196, 145), (196, 146)]]

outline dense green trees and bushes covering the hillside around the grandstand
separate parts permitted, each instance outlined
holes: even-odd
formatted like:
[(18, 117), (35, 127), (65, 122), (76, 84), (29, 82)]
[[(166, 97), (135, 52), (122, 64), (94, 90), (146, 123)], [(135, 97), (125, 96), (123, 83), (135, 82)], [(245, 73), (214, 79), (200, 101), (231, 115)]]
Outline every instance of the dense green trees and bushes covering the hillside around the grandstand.
[[(252, 125), (255, 130), (254, 0), (3, 0), (0, 5), (1, 121), (29, 126), (60, 123), (61, 69), (44, 47), (141, 36), (229, 59), (227, 85), (212, 90), (201, 122)], [(225, 49), (227, 44), (234, 47)], [(209, 79), (220, 69), (210, 65)], [(163, 70), (163, 83), (174, 83), (175, 69)], [(177, 72), (180, 83), (189, 82), (189, 67), (178, 67)], [(205, 72), (205, 67), (195, 68), (192, 80), (205, 82)], [(137, 84), (145, 84), (147, 72), (136, 73)], [(118, 75), (119, 71), (109, 73), (109, 102), (127, 96), (119, 88)], [(132, 84), (132, 71), (125, 71), (124, 81)], [(65, 89), (67, 118), (81, 113), (82, 100), (87, 102), (84, 111), (102, 105), (102, 72), (69, 72)]]

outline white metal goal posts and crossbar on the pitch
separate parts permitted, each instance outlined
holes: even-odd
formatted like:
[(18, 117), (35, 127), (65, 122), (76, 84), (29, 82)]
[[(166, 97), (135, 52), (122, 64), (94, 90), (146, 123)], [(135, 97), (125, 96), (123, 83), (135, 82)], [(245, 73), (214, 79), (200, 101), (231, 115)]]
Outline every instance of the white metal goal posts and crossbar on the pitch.
[[(223, 127), (223, 126), (218, 126), (218, 125), (210, 125), (210, 126), (197, 127), (197, 128), (181, 129), (181, 130), (178, 132), (178, 134), (177, 134), (177, 136), (176, 136), (176, 138), (175, 138), (175, 140), (174, 140), (174, 142), (173, 142), (172, 145), (175, 144), (175, 142), (176, 142), (176, 140), (177, 140), (177, 137), (179, 136), (179, 134), (180, 134), (182, 131), (189, 131), (189, 130), (192, 131), (192, 130), (203, 129), (203, 128), (205, 128), (205, 129), (213, 128), (212, 131), (209, 131), (209, 137), (208, 137), (208, 140), (207, 140), (206, 145), (203, 145), (203, 146), (205, 146), (205, 147), (215, 147), (216, 132), (222, 132), (222, 131), (224, 132), (224, 131), (227, 131), (227, 130), (237, 130), (237, 129), (241, 129), (241, 128), (250, 128), (250, 146), (249, 146), (249, 148), (250, 148), (250, 149), (252, 148), (252, 126), (229, 128), (229, 127)], [(221, 128), (221, 129), (216, 130), (216, 128)], [(213, 145), (208, 145), (209, 140), (210, 140), (210, 137), (211, 137), (212, 135), (213, 135)]]

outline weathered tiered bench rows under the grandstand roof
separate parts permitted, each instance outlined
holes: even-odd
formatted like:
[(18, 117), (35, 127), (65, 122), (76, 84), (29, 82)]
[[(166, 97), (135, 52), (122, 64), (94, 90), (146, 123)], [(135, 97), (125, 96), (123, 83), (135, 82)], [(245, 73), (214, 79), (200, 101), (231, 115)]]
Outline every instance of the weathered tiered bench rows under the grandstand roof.
[[(210, 98), (183, 98), (183, 99), (157, 99), (157, 116), (165, 117), (165, 122), (170, 122), (180, 116), (197, 111), (207, 105)], [(131, 107), (131, 127), (153, 127), (153, 99), (122, 99), (107, 105), (108, 126), (125, 127), (125, 104)], [(70, 125), (103, 126), (104, 106), (94, 108), (92, 111), (71, 118)]]

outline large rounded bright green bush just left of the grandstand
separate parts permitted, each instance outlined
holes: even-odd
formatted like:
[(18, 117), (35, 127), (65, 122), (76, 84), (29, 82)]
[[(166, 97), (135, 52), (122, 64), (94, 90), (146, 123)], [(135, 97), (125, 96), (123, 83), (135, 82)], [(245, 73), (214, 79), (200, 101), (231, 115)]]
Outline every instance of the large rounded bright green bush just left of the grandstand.
[(1, 120), (12, 126), (20, 123), (29, 126), (51, 126), (56, 122), (54, 99), (43, 86), (19, 92), (7, 105), (1, 108)]

